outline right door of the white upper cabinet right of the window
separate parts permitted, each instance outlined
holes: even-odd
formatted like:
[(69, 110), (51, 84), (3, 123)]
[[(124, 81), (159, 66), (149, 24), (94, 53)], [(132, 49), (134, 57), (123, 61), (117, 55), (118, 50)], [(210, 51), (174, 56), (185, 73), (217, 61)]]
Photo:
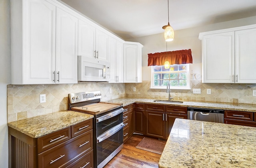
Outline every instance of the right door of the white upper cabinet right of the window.
[(256, 28), (235, 32), (235, 82), (256, 83)]

